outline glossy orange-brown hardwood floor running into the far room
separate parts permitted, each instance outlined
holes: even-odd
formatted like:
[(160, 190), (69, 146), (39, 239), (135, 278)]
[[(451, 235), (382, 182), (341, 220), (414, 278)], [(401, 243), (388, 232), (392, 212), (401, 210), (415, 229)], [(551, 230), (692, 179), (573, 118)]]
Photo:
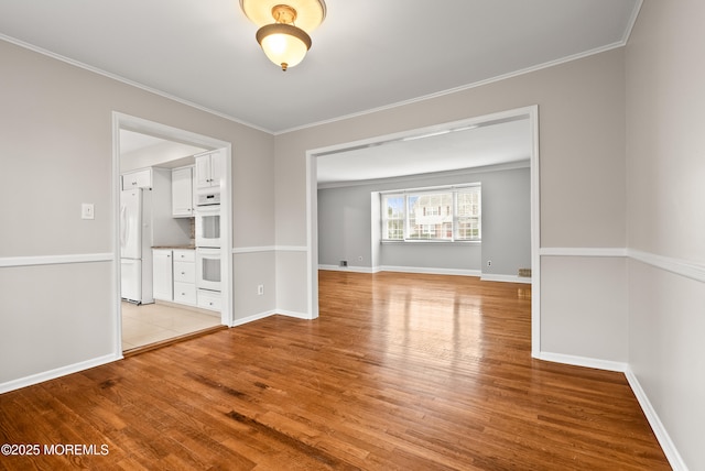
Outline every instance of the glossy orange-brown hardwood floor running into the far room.
[[(0, 443), (42, 451), (0, 469), (670, 469), (622, 374), (530, 358), (528, 285), (319, 285), (314, 321), (272, 316), (0, 395)], [(73, 443), (89, 453), (44, 449)]]

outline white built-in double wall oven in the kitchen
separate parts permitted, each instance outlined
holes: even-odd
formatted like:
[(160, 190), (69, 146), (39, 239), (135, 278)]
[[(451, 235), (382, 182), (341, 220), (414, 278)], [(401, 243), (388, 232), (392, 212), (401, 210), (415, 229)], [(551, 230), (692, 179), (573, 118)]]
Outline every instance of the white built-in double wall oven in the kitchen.
[[(196, 198), (196, 288), (220, 292), (220, 194), (199, 193)], [(207, 293), (205, 293), (207, 294)]]

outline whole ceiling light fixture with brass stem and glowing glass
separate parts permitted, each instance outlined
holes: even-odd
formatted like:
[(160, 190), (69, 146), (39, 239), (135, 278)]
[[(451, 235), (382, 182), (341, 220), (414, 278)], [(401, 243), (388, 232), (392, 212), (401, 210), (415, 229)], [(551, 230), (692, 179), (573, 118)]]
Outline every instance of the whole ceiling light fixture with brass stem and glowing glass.
[[(311, 48), (308, 33), (326, 17), (323, 0), (240, 0), (240, 8), (254, 24), (257, 42), (271, 62), (286, 70), (300, 64)], [(272, 23), (272, 19), (274, 23)]]

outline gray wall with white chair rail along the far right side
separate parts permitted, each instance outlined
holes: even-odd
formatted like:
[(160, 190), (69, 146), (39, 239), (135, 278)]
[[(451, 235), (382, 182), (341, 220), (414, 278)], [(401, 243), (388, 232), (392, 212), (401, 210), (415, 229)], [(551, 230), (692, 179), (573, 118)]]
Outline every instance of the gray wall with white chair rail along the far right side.
[(703, 19), (702, 1), (644, 1), (626, 62), (629, 364), (691, 470), (705, 469)]

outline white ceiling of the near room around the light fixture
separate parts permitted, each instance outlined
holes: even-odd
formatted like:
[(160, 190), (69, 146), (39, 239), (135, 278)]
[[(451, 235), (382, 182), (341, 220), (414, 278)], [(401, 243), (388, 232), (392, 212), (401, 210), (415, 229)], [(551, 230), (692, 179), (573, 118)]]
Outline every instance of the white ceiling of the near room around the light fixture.
[(327, 0), (281, 72), (238, 0), (0, 0), (0, 39), (280, 133), (623, 45), (641, 0)]

